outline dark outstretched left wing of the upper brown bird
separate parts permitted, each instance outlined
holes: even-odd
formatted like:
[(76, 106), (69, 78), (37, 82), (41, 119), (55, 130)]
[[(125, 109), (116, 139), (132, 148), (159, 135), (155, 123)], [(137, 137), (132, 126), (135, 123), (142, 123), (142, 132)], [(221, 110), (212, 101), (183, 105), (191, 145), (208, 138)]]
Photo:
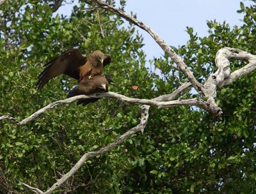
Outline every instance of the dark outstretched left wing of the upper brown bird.
[(45, 64), (45, 69), (38, 76), (36, 86), (38, 89), (58, 75), (65, 74), (79, 80), (79, 66), (86, 63), (86, 57), (82, 56), (77, 48), (63, 52), (60, 56)]

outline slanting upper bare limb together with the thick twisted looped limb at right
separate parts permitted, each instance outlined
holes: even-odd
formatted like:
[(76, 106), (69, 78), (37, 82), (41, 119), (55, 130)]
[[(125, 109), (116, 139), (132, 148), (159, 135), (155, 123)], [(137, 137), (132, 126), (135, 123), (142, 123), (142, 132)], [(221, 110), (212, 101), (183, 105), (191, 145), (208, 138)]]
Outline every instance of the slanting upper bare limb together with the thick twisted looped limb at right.
[[(95, 8), (100, 7), (106, 10), (109, 10), (116, 15), (124, 18), (128, 22), (140, 27), (141, 29), (147, 31), (152, 38), (159, 44), (161, 48), (163, 48), (164, 52), (171, 57), (171, 59), (177, 64), (178, 70), (182, 71), (182, 73), (188, 78), (191, 85), (198, 91), (198, 93), (203, 94), (207, 100), (207, 105), (209, 110), (217, 117), (221, 117), (223, 112), (220, 107), (215, 103), (216, 98), (216, 89), (217, 87), (222, 87), (224, 85), (228, 85), (231, 82), (234, 82), (238, 77), (242, 75), (246, 75), (249, 72), (252, 72), (255, 69), (255, 56), (248, 52), (244, 52), (242, 50), (238, 50), (236, 48), (221, 48), (216, 54), (216, 66), (218, 70), (208, 78), (205, 82), (204, 86), (200, 84), (196, 78), (193, 76), (193, 73), (188, 69), (188, 66), (180, 59), (180, 57), (172, 50), (171, 47), (165, 43), (161, 37), (154, 33), (150, 27), (145, 26), (143, 22), (135, 19), (131, 15), (128, 15), (122, 10), (119, 10), (112, 6), (111, 4), (105, 3), (100, 0), (91, 0), (92, 3), (95, 4)], [(230, 75), (230, 67), (229, 60), (230, 59), (238, 59), (242, 61), (250, 61), (250, 64), (244, 66), (243, 69), (237, 70)], [(253, 62), (252, 62), (253, 61)], [(243, 73), (242, 73), (243, 72)]]

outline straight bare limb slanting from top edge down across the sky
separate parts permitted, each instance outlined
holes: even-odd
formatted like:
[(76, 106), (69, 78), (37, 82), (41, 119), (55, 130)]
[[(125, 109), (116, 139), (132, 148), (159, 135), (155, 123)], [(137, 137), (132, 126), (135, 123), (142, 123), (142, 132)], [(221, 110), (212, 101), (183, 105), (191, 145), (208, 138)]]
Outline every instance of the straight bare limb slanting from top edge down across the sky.
[(198, 93), (200, 93), (202, 91), (202, 87), (203, 87), (202, 84), (200, 84), (196, 80), (193, 73), (189, 70), (188, 66), (184, 63), (184, 61), (182, 61), (182, 59), (180, 59), (180, 57), (174, 52), (174, 50), (171, 47), (169, 47), (169, 45), (167, 43), (165, 43), (164, 40), (162, 40), (158, 34), (156, 34), (154, 31), (152, 31), (152, 29), (150, 29), (150, 27), (145, 26), (145, 24), (143, 24), (143, 22), (141, 22), (137, 19), (134, 19), (134, 17), (131, 17), (131, 15), (128, 15), (124, 11), (115, 8), (110, 4), (104, 3), (103, 1), (100, 1), (100, 0), (91, 0), (91, 1), (95, 4), (97, 4), (98, 7), (109, 10), (109, 11), (115, 13), (116, 15), (119, 15), (120, 17), (124, 18), (125, 20), (131, 22), (132, 24), (140, 27), (141, 29), (147, 31), (147, 33), (150, 34), (150, 36), (152, 36), (152, 38), (154, 38), (154, 40), (158, 43), (158, 45), (161, 48), (163, 48), (164, 52), (166, 52), (168, 54), (168, 56), (170, 56), (171, 59), (173, 59), (173, 61), (179, 67), (179, 70), (182, 71), (182, 73), (188, 78), (189, 82), (191, 82), (192, 86), (195, 87), (196, 91), (198, 91)]

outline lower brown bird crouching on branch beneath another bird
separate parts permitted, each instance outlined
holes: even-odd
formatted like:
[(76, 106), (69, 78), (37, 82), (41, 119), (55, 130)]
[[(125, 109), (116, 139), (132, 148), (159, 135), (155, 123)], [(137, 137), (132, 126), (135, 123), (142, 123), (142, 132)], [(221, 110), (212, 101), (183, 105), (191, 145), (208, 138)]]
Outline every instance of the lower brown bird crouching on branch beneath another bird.
[[(110, 82), (112, 82), (112, 80), (109, 75), (95, 75), (91, 79), (82, 80), (78, 86), (74, 87), (74, 89), (68, 93), (67, 98), (81, 94), (89, 95), (94, 93), (108, 92), (108, 84)], [(84, 106), (97, 100), (99, 100), (99, 98), (81, 99), (77, 101), (77, 105), (83, 104)]]

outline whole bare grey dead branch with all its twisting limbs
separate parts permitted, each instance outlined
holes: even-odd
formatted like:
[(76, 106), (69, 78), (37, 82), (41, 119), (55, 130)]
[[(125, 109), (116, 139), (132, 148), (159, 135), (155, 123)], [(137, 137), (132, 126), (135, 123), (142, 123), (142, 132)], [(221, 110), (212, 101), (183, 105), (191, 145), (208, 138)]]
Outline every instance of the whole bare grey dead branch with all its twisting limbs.
[[(148, 110), (150, 106), (156, 106), (158, 108), (167, 108), (167, 107), (176, 107), (180, 105), (189, 105), (189, 106), (198, 106), (200, 108), (204, 108), (205, 110), (210, 110), (213, 114), (216, 116), (222, 115), (222, 110), (218, 105), (215, 103), (216, 98), (216, 89), (221, 88), (223, 86), (227, 86), (237, 80), (237, 78), (242, 77), (244, 75), (248, 75), (248, 73), (251, 73), (256, 68), (256, 56), (244, 52), (242, 50), (238, 50), (236, 48), (221, 48), (217, 54), (216, 54), (216, 66), (218, 67), (218, 70), (213, 73), (205, 82), (204, 85), (200, 84), (196, 78), (193, 76), (193, 73), (188, 69), (188, 66), (180, 59), (179, 56), (166, 44), (158, 34), (154, 33), (152, 29), (145, 26), (142, 22), (140, 22), (137, 19), (134, 19), (127, 13), (125, 13), (122, 10), (118, 10), (115, 7), (113, 7), (111, 4), (104, 3), (100, 0), (91, 0), (93, 3), (95, 3), (95, 9), (97, 8), (104, 8), (106, 10), (112, 11), (116, 15), (119, 15), (120, 17), (123, 17), (127, 21), (131, 22), (132, 24), (140, 27), (141, 29), (147, 31), (152, 38), (159, 44), (161, 48), (163, 48), (164, 52), (168, 54), (168, 56), (171, 57), (171, 59), (177, 64), (178, 70), (182, 71), (182, 73), (188, 78), (189, 82), (182, 84), (177, 90), (175, 90), (172, 94), (166, 94), (163, 96), (159, 96), (157, 98), (148, 100), (148, 99), (138, 99), (138, 98), (129, 98), (127, 96), (124, 96), (122, 94), (117, 93), (99, 93), (99, 94), (93, 94), (90, 96), (80, 95), (80, 96), (74, 96), (72, 98), (68, 98), (66, 100), (60, 100), (55, 101), (44, 108), (41, 108), (31, 116), (23, 119), (22, 121), (18, 121), (17, 119), (11, 117), (11, 116), (1, 116), (0, 121), (7, 119), (9, 121), (12, 121), (15, 124), (22, 125), (26, 124), (29, 121), (36, 119), (36, 117), (40, 116), (41, 114), (44, 114), (47, 110), (50, 110), (51, 108), (55, 107), (56, 105), (63, 105), (68, 104), (73, 101), (79, 100), (79, 99), (86, 99), (86, 98), (116, 98), (120, 101), (124, 101), (131, 104), (140, 104), (143, 105), (141, 108), (141, 119), (140, 124), (137, 126), (134, 126), (127, 132), (125, 132), (123, 135), (120, 135), (115, 142), (112, 142), (111, 144), (108, 144), (106, 147), (102, 147), (97, 151), (92, 151), (89, 153), (85, 153), (79, 161), (77, 161), (76, 165), (70, 169), (67, 174), (62, 175), (60, 179), (56, 183), (54, 183), (51, 188), (49, 188), (47, 191), (43, 192), (39, 190), (38, 188), (33, 188), (29, 186), (28, 184), (22, 183), (24, 186), (29, 188), (29, 190), (33, 191), (34, 193), (38, 194), (49, 194), (52, 193), (57, 188), (60, 188), (61, 184), (65, 183), (72, 175), (76, 173), (77, 170), (84, 164), (84, 161), (88, 160), (88, 158), (92, 158), (94, 156), (98, 156), (100, 154), (107, 153), (108, 151), (111, 151), (116, 146), (122, 144), (127, 138), (131, 137), (134, 133), (141, 131), (143, 132), (147, 121), (148, 121)], [(100, 20), (100, 19), (99, 19)], [(244, 67), (242, 67), (239, 70), (234, 71), (233, 73), (230, 72), (230, 60), (232, 59), (238, 59), (241, 61), (248, 61), (248, 64)], [(174, 100), (174, 98), (186, 91), (186, 89), (193, 86), (198, 93), (203, 94), (207, 101), (193, 98), (193, 99), (187, 99), (187, 100)]]

